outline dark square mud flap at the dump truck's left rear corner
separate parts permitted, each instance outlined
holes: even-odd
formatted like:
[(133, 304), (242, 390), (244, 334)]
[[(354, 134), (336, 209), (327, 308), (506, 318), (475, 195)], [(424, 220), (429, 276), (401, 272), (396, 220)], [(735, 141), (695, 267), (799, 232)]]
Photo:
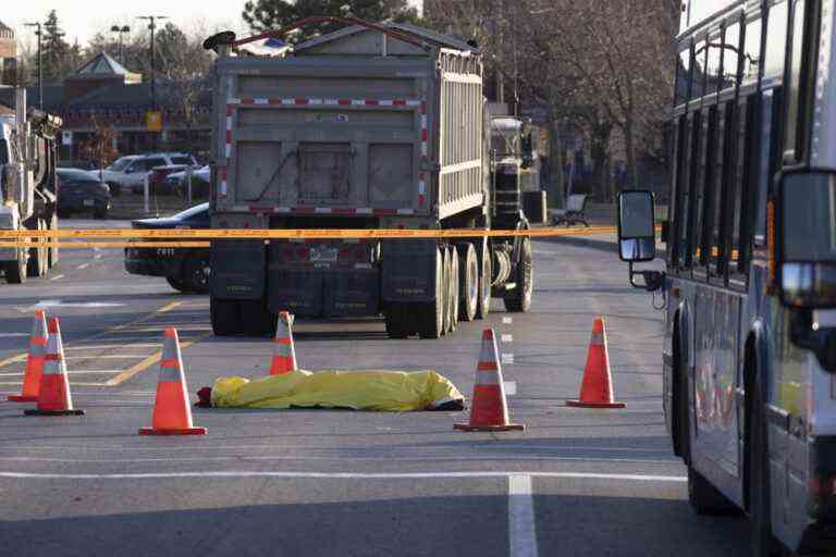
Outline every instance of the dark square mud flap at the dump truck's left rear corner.
[(265, 297), (266, 250), (261, 240), (216, 240), (211, 248), (211, 295), (218, 299)]

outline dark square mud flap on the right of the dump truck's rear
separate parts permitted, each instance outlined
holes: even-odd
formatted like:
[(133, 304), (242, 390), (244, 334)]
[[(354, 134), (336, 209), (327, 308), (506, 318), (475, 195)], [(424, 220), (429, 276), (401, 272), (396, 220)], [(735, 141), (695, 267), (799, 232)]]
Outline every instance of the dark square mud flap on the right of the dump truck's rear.
[(386, 240), (381, 249), (383, 301), (435, 299), (435, 240)]

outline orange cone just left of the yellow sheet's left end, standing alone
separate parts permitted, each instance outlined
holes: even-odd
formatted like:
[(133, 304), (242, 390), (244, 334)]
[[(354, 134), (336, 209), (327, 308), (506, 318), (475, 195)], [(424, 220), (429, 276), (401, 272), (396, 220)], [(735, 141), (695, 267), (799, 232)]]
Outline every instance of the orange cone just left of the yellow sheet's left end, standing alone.
[(167, 329), (152, 424), (150, 428), (142, 428), (139, 435), (204, 435), (206, 428), (195, 428), (192, 422), (177, 332)]

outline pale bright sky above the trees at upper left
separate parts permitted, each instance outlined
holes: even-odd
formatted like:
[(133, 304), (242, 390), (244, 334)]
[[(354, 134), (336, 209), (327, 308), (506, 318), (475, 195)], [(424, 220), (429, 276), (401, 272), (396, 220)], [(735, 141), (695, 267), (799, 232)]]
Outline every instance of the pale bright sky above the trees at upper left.
[[(410, 0), (419, 4), (422, 0)], [(58, 12), (59, 24), (66, 33), (65, 40), (81, 45), (96, 33), (108, 30), (113, 24), (130, 25), (136, 29), (147, 22), (137, 15), (168, 15), (172, 23), (186, 32), (212, 33), (232, 29), (245, 33), (241, 18), (246, 0), (0, 0), (0, 21), (12, 27), (17, 37), (28, 42), (32, 30), (24, 23), (45, 21), (50, 10)]]

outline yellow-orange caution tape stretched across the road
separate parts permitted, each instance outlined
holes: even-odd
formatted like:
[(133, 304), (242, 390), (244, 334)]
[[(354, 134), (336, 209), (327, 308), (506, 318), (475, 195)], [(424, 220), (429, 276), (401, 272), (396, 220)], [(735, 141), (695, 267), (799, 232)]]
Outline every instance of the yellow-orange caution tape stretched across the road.
[[(0, 231), (0, 248), (60, 247), (60, 248), (122, 248), (122, 247), (209, 247), (210, 239), (441, 239), (472, 237), (553, 237), (582, 236), (614, 233), (614, 226), (591, 226), (589, 228), (534, 228), (528, 231), (484, 230), (339, 230), (339, 228), (293, 228), (293, 230), (59, 230), (59, 231)], [(28, 238), (164, 238), (176, 242), (32, 242)], [(184, 240), (183, 238), (186, 238)], [(188, 238), (193, 238), (188, 242)], [(5, 239), (5, 242), (3, 242)]]

